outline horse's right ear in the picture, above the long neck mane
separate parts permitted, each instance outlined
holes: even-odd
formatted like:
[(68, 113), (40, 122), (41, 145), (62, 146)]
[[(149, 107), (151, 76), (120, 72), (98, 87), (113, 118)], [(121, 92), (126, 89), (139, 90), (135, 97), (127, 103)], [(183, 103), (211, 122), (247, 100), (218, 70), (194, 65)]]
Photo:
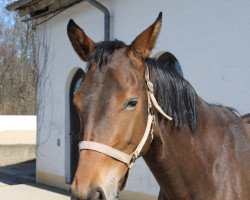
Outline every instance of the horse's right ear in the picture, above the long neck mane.
[(140, 35), (138, 35), (135, 40), (130, 45), (130, 54), (132, 54), (137, 59), (145, 59), (150, 54), (154, 48), (156, 39), (160, 33), (162, 22), (162, 12), (159, 13), (155, 22), (144, 30)]

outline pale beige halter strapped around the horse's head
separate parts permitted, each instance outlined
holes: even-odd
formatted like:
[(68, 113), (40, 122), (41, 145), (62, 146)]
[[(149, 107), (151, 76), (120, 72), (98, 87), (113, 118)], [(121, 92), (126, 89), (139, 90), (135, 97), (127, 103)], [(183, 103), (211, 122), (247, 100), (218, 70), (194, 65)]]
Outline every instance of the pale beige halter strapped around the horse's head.
[(111, 146), (105, 145), (105, 144), (101, 144), (98, 142), (93, 142), (93, 141), (81, 141), (79, 143), (79, 151), (81, 150), (92, 150), (92, 151), (97, 151), (100, 153), (103, 153), (107, 156), (110, 156), (116, 160), (119, 160), (123, 163), (125, 163), (128, 168), (132, 168), (135, 160), (140, 156), (140, 152), (143, 148), (143, 146), (145, 145), (149, 134), (151, 134), (151, 141), (153, 140), (153, 126), (155, 124), (155, 116), (151, 114), (150, 109), (153, 106), (155, 107), (155, 109), (161, 113), (165, 118), (167, 118), (168, 120), (172, 120), (171, 117), (169, 117), (159, 106), (159, 104), (157, 103), (155, 96), (154, 96), (154, 85), (153, 83), (150, 81), (149, 79), (149, 70), (148, 70), (148, 66), (146, 66), (145, 69), (145, 79), (146, 79), (146, 84), (148, 87), (148, 91), (147, 91), (147, 96), (148, 96), (148, 120), (147, 120), (147, 125), (146, 125), (146, 129), (144, 131), (143, 137), (140, 141), (140, 143), (138, 144), (137, 148), (131, 153), (131, 154), (126, 154), (118, 149), (115, 149)]

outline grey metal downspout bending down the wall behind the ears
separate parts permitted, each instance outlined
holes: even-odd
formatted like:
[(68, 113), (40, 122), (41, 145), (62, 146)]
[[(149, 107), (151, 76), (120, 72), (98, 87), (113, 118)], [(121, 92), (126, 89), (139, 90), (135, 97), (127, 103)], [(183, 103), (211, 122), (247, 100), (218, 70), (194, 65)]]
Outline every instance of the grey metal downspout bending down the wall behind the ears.
[(104, 14), (104, 40), (110, 40), (110, 13), (109, 10), (96, 0), (85, 0)]

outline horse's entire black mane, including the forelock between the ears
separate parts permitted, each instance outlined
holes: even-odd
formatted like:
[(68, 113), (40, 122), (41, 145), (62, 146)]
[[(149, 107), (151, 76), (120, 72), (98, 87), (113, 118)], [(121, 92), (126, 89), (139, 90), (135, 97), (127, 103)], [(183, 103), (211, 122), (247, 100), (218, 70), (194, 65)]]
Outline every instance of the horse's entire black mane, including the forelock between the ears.
[[(113, 53), (127, 45), (119, 40), (102, 41), (95, 45), (88, 59), (88, 66), (96, 63), (99, 70), (106, 66)], [(155, 87), (155, 97), (161, 108), (173, 117), (175, 127), (188, 124), (192, 132), (197, 128), (196, 102), (199, 100), (193, 87), (177, 74), (174, 65), (165, 66), (155, 59), (147, 58), (151, 79)]]

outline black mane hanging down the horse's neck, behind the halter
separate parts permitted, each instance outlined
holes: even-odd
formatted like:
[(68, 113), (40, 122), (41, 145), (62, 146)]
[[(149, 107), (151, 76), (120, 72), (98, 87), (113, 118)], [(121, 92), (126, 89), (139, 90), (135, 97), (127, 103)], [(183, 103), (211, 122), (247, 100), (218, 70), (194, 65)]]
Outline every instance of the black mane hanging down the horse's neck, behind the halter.
[(173, 117), (175, 127), (181, 128), (187, 123), (195, 132), (199, 97), (193, 87), (177, 74), (173, 65), (162, 65), (152, 58), (146, 59), (146, 63), (154, 83), (156, 100), (163, 111)]

